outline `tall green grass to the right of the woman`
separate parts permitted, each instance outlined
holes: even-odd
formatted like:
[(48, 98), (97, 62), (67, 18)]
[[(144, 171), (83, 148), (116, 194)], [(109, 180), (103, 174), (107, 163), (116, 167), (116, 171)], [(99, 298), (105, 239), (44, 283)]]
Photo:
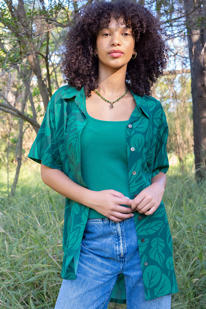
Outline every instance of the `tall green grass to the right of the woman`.
[(177, 177), (171, 172), (168, 178), (164, 201), (179, 286), (179, 293), (173, 296), (172, 308), (202, 309), (206, 303), (205, 192), (206, 182), (196, 184), (192, 174)]

